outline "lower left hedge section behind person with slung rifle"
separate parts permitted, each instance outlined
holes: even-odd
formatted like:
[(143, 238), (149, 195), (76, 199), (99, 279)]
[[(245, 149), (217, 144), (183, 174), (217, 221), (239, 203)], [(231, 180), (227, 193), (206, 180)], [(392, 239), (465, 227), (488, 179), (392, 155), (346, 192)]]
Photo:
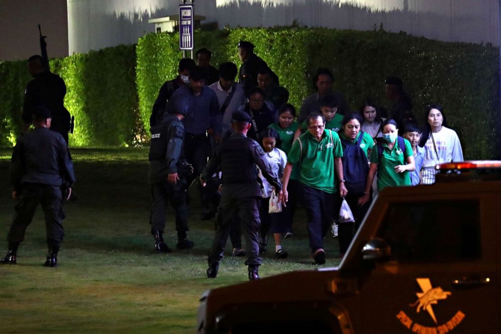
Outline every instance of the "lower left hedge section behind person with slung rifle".
[[(65, 106), (75, 116), (72, 146), (127, 146), (144, 140), (135, 86), (135, 45), (76, 53), (50, 61), (66, 83)], [(20, 135), (26, 62), (0, 64), (0, 145)], [(6, 80), (4, 81), (4, 78)]]

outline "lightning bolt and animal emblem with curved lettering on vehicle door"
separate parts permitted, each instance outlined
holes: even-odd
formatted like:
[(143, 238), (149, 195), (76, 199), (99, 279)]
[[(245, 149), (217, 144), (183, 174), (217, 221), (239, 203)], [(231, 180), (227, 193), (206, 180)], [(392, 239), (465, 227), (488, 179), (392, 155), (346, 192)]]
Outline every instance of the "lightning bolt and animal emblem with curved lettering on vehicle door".
[(416, 279), (422, 292), (416, 293), (418, 299), (409, 304), (410, 307), (416, 307), (416, 313), (422, 310), (426, 310), (436, 326), (424, 326), (415, 321), (413, 321), (404, 311), (400, 311), (396, 317), (405, 327), (412, 330), (415, 333), (446, 333), (453, 330), (457, 325), (463, 321), (465, 314), (461, 311), (456, 312), (456, 314), (450, 318), (448, 321), (441, 325), (438, 325), (435, 313), (433, 312), (432, 305), (437, 305), (438, 301), (447, 299), (448, 296), (452, 295), (450, 291), (443, 291), (441, 287), (433, 287), (431, 281), (428, 278), (418, 278)]

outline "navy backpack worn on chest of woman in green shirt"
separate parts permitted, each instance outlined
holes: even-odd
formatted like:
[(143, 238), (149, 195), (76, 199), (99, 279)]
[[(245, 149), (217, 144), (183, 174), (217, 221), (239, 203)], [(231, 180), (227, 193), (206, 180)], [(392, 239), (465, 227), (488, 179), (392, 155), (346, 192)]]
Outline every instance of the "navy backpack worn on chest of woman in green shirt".
[(343, 175), (344, 185), (348, 192), (363, 193), (369, 173), (369, 164), (364, 150), (360, 147), (364, 132), (361, 131), (357, 143), (352, 144), (349, 140), (341, 139), (343, 149)]

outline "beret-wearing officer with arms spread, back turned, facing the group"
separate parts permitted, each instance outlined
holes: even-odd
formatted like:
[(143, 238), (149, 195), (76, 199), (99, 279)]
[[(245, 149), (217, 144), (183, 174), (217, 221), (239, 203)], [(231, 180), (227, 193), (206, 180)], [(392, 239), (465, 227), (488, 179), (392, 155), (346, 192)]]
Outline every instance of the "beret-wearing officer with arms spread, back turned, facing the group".
[(282, 196), (282, 185), (270, 163), (266, 159), (261, 146), (252, 138), (246, 136), (250, 129), (250, 117), (243, 112), (232, 114), (231, 127), (233, 133), (218, 146), (214, 157), (208, 162), (200, 179), (205, 181), (221, 168), (221, 202), (216, 216), (217, 230), (209, 254), (207, 277), (215, 278), (219, 262), (223, 258), (226, 240), (230, 230), (231, 220), (238, 213), (244, 226), (248, 277), (250, 281), (258, 280), (258, 268), (261, 264), (259, 256), (259, 210), (261, 188), (258, 183), (256, 165), (259, 166), (265, 178), (275, 187), (275, 192)]

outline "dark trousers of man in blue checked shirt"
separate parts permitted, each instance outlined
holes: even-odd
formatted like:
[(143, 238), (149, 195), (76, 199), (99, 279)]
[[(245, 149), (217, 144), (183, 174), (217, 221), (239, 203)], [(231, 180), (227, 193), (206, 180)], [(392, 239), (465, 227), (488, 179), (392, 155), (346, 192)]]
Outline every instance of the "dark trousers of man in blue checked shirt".
[[(184, 157), (188, 163), (193, 165), (193, 175), (188, 178), (188, 186), (191, 185), (193, 180), (197, 179), (200, 173), (204, 170), (207, 165), (207, 159), (209, 157), (210, 142), (209, 138), (203, 135), (193, 135), (185, 133), (184, 135)], [(200, 198), (202, 201), (202, 207), (208, 207), (211, 201), (209, 191), (207, 187), (202, 187), (199, 182), (197, 184), (197, 189), (200, 193)]]

